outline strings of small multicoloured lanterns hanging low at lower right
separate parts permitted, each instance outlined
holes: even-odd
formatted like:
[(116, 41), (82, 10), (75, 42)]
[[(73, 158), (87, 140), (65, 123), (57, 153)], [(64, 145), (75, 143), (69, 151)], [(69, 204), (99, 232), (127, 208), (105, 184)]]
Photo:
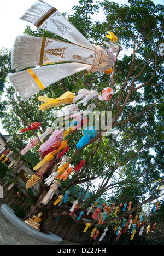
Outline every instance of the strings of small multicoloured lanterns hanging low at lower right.
[[(54, 202), (54, 205), (60, 203), (60, 202), (67, 202), (68, 200), (68, 196), (69, 196), (69, 191), (65, 192), (65, 195), (61, 195), (58, 197), (58, 199)], [(87, 210), (87, 214), (88, 215), (90, 213), (90, 211), (97, 205), (97, 203), (94, 204), (94, 206), (90, 206)], [(120, 209), (122, 208), (122, 212), (125, 211), (129, 211), (131, 209), (131, 205), (132, 205), (132, 201), (130, 201), (128, 204), (125, 203), (124, 206), (122, 203), (120, 203), (118, 206), (115, 207), (115, 203), (112, 204), (112, 207), (107, 206), (106, 203), (103, 204), (102, 207), (98, 207), (95, 209), (94, 213), (92, 214), (92, 219), (93, 220), (97, 220), (97, 218), (99, 217), (99, 221), (97, 223), (97, 225), (95, 227), (93, 227), (92, 231), (91, 231), (91, 235), (90, 237), (92, 237), (93, 240), (96, 240), (97, 236), (99, 235), (100, 231), (99, 231), (99, 227), (103, 224), (104, 220), (108, 217), (109, 213), (112, 213), (114, 207), (115, 207), (115, 211), (114, 211), (114, 215), (118, 214), (120, 212)], [(73, 206), (72, 208), (69, 210), (71, 213), (69, 213), (69, 215), (72, 215), (75, 211), (77, 211), (77, 209), (79, 208), (79, 204), (78, 204), (78, 200), (75, 200), (73, 202)], [(104, 209), (104, 211), (102, 210)], [(156, 202), (156, 209), (155, 206), (153, 206), (153, 208), (151, 209), (151, 213), (152, 215), (154, 214), (154, 211), (159, 209), (159, 201)], [(100, 213), (101, 211), (103, 211), (103, 213)], [(77, 220), (83, 219), (83, 215), (84, 215), (84, 211), (81, 211), (79, 213), (79, 217), (77, 218)], [(114, 229), (114, 233), (113, 235), (116, 235), (116, 241), (119, 240), (121, 234), (125, 234), (125, 232), (127, 231), (127, 229), (131, 229), (131, 240), (133, 240), (134, 235), (136, 234), (136, 229), (140, 227), (140, 231), (139, 231), (139, 236), (141, 236), (143, 234), (144, 231), (144, 224), (145, 224), (145, 220), (144, 220), (144, 216), (145, 213), (143, 212), (142, 214), (140, 214), (140, 216), (138, 214), (136, 214), (136, 216), (134, 217), (134, 219), (132, 219), (132, 214), (129, 215), (128, 219), (124, 218), (122, 220), (122, 224), (118, 227), (115, 227)], [(55, 218), (55, 222), (58, 220), (59, 217)], [(85, 218), (85, 215), (84, 215)], [(138, 224), (137, 224), (138, 221)], [(155, 231), (156, 228), (156, 221), (153, 225), (153, 232)], [(83, 232), (86, 232), (87, 229), (89, 229), (89, 227), (92, 226), (91, 223), (86, 223), (85, 224), (85, 229), (83, 230)], [(146, 234), (148, 234), (150, 232), (150, 224), (147, 226), (147, 230), (146, 230)], [(101, 235), (101, 237), (99, 238), (98, 241), (102, 241), (104, 236), (106, 235), (106, 232), (108, 231), (108, 226), (104, 229), (103, 234)]]

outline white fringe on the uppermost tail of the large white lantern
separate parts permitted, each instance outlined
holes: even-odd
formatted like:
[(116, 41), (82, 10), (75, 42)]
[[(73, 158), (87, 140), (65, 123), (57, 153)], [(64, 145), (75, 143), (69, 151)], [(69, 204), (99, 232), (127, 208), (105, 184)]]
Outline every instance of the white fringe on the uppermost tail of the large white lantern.
[(35, 2), (26, 12), (23, 16), (21, 16), (20, 20), (24, 20), (27, 22), (32, 23), (33, 25), (38, 23), (38, 20), (44, 16), (49, 10), (52, 8), (52, 6), (43, 0), (38, 0), (38, 2)]

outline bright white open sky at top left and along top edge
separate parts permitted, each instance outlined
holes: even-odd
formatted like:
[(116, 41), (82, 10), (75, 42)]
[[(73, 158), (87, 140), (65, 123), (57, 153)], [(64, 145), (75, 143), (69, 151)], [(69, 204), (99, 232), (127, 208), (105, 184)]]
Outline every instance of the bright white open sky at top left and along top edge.
[[(103, 0), (100, 0), (103, 1)], [(24, 12), (36, 2), (35, 0), (0, 0), (0, 49), (2, 47), (11, 49), (13, 47), (17, 35), (24, 32), (26, 25), (32, 24), (22, 21), (19, 18)], [(67, 12), (68, 15), (73, 14), (72, 7), (79, 5), (79, 0), (46, 0), (51, 6), (58, 9), (60, 13)], [(96, 0), (94, 0), (96, 2)], [(114, 0), (118, 4), (126, 4), (127, 0)], [(164, 0), (154, 0), (155, 4), (164, 5)], [(8, 134), (2, 129), (0, 120), (0, 131), (5, 135)]]

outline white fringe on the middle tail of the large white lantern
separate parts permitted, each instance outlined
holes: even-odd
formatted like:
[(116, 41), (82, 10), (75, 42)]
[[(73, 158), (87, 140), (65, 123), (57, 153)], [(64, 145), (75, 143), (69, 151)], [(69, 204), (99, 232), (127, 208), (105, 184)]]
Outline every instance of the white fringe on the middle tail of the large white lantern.
[(11, 54), (11, 66), (17, 71), (39, 66), (42, 37), (17, 36)]

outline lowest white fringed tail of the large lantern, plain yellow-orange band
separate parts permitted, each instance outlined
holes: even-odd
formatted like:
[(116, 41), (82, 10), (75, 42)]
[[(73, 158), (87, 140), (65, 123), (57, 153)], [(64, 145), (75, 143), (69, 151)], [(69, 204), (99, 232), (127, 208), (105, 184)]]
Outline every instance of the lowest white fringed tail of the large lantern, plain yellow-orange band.
[[(19, 73), (9, 74), (8, 78), (23, 100), (27, 100), (50, 84), (87, 69), (89, 65), (62, 63), (51, 66), (35, 67)], [(30, 72), (29, 72), (30, 71)]]

